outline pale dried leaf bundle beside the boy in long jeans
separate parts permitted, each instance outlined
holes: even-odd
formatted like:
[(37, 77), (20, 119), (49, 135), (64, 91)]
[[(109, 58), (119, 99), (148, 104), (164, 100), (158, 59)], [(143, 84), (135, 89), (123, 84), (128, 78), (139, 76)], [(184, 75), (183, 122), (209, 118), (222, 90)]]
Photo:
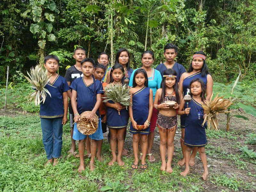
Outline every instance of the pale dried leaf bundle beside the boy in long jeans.
[(44, 88), (45, 85), (50, 81), (50, 76), (48, 77), (47, 71), (44, 70), (40, 65), (36, 65), (35, 68), (32, 67), (30, 69), (30, 74), (28, 73), (28, 77), (25, 76), (25, 78), (32, 85), (31, 87), (35, 89), (34, 92), (28, 95), (28, 101), (34, 100), (35, 105), (37, 106), (41, 102), (44, 103), (47, 96), (46, 93), (48, 93), (51, 97), (51, 93)]

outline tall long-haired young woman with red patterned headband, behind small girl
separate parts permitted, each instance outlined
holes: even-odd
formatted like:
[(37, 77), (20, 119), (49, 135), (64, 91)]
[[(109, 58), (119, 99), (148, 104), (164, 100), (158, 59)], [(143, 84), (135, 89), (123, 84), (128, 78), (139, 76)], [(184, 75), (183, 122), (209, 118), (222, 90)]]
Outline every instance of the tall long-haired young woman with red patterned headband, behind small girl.
[[(181, 93), (183, 93), (183, 96), (186, 95), (190, 82), (196, 78), (199, 78), (204, 82), (204, 86), (206, 89), (206, 100), (210, 99), (212, 95), (213, 80), (212, 80), (211, 74), (208, 71), (205, 60), (206, 60), (206, 55), (204, 52), (198, 51), (193, 54), (188, 72), (183, 73), (180, 77), (179, 90)], [(178, 161), (178, 164), (180, 166), (183, 166), (185, 164), (185, 151), (186, 151), (186, 146), (184, 145), (185, 117), (186, 117), (185, 115), (180, 116), (180, 128), (181, 128), (180, 145), (183, 153), (183, 159)], [(197, 147), (193, 148), (193, 152), (189, 161), (190, 166), (193, 166), (195, 164), (196, 152), (197, 152)]]

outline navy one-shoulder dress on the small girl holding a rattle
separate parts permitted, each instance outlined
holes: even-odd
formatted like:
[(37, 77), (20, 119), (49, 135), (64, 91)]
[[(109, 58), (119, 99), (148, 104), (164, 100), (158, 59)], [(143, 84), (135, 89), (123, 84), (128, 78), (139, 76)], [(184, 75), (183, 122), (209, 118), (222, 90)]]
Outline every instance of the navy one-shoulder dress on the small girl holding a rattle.
[[(204, 121), (204, 109), (202, 105), (195, 100), (188, 103), (189, 114), (185, 116), (185, 138), (184, 144), (189, 147), (204, 147), (207, 144)], [(200, 119), (199, 119), (200, 118)]]

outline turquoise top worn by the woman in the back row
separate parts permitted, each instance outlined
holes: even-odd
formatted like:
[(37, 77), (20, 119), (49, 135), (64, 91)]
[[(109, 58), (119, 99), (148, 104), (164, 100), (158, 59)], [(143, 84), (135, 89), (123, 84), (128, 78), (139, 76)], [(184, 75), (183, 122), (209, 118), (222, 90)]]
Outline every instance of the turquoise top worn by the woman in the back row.
[[(139, 68), (137, 68), (137, 69), (139, 69)], [(134, 73), (137, 69), (135, 69), (132, 72), (130, 82), (129, 82), (130, 87), (132, 87), (133, 76), (134, 76)], [(153, 91), (153, 100), (155, 100), (156, 90), (161, 88), (161, 83), (162, 83), (161, 73), (158, 70), (153, 68), (152, 76), (148, 77), (148, 87), (151, 88), (152, 91)]]

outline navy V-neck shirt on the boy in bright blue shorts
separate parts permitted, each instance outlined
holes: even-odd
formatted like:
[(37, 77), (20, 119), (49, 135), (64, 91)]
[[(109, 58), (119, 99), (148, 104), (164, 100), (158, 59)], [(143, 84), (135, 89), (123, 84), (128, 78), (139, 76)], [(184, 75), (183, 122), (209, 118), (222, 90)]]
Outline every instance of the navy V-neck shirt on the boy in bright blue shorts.
[[(97, 100), (97, 94), (103, 94), (103, 87), (99, 80), (93, 81), (92, 84), (86, 85), (84, 77), (76, 78), (70, 88), (75, 90), (76, 101), (77, 101), (77, 111), (79, 114), (84, 111), (92, 111)], [(96, 114), (99, 116), (99, 110)]]

